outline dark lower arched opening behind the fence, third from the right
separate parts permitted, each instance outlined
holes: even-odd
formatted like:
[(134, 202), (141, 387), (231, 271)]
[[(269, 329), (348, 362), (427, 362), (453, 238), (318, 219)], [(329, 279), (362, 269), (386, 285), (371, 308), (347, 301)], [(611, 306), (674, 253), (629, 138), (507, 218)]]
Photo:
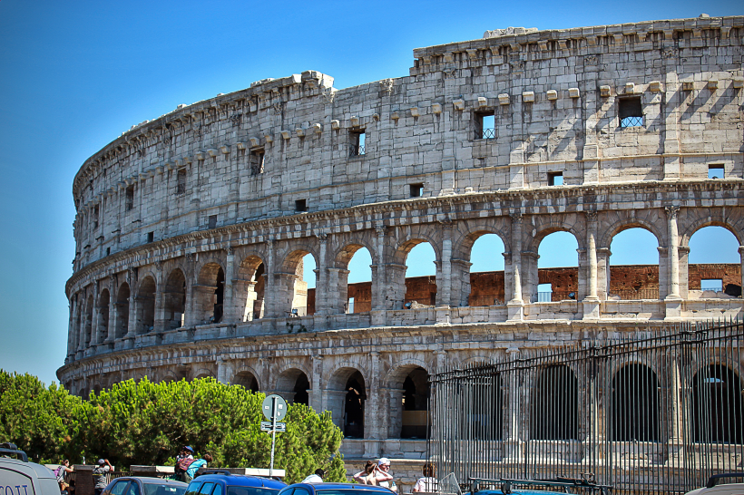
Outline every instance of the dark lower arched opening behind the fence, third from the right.
[(578, 439), (579, 391), (573, 371), (563, 364), (553, 364), (539, 373), (530, 408), (530, 438)]

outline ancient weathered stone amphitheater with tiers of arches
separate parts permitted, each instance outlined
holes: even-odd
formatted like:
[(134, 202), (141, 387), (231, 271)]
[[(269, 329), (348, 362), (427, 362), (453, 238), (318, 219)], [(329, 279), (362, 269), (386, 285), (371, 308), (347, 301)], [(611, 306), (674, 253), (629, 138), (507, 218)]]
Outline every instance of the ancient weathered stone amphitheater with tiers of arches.
[[(742, 37), (744, 17), (489, 31), (416, 49), (406, 77), (337, 90), (308, 71), (132, 127), (73, 183), (59, 379), (212, 376), (331, 411), (350, 457), (420, 458), (436, 369), (738, 315), (693, 290), (688, 254), (707, 226), (744, 240)], [(658, 241), (653, 296), (612, 296), (628, 228)], [(561, 230), (576, 277), (539, 302), (538, 247)], [(493, 298), (471, 294), (485, 234), (504, 242)], [(406, 296), (422, 242), (423, 300)], [(360, 248), (372, 281), (351, 311)]]

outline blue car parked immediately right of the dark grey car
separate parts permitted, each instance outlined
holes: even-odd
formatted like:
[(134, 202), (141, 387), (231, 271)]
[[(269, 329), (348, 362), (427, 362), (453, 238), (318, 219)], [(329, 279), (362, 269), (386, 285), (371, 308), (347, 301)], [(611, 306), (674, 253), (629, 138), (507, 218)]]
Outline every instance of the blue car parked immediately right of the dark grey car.
[(270, 478), (210, 470), (189, 483), (186, 495), (276, 495), (287, 483)]

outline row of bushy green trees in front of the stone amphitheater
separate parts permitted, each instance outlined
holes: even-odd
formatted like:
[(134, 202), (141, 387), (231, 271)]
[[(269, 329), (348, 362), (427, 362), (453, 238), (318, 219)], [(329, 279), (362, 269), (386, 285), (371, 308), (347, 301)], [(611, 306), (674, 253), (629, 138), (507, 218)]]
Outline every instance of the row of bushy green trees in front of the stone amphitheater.
[[(271, 439), (260, 431), (262, 393), (211, 378), (116, 383), (87, 400), (31, 375), (0, 370), (0, 442), (15, 442), (34, 460), (73, 462), (100, 457), (126, 469), (132, 464), (172, 465), (183, 445), (212, 466), (268, 468)], [(290, 405), (287, 432), (277, 434), (274, 467), (287, 482), (318, 467), (327, 480), (345, 480), (338, 454), (342, 435), (328, 412)]]

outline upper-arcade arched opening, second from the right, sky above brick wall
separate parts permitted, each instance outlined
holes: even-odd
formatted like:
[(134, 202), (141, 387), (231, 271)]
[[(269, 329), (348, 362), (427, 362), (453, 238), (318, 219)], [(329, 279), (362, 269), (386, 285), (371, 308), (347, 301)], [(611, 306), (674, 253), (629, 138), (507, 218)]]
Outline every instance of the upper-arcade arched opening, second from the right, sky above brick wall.
[(612, 238), (607, 295), (610, 299), (659, 298), (659, 241), (645, 228)]

